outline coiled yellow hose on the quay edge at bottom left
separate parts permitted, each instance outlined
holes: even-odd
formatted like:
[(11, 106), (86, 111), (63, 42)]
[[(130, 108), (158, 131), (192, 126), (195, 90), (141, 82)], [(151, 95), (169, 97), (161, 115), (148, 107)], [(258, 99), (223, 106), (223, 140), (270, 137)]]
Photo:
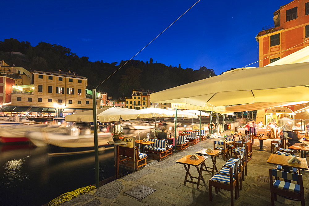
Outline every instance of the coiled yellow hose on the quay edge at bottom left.
[(87, 192), (94, 190), (94, 189), (95, 189), (95, 187), (93, 187), (93, 186), (87, 186), (87, 187), (78, 188), (78, 189), (76, 189), (72, 192), (64, 193), (64, 194), (60, 195), (59, 197), (50, 201), (48, 206), (56, 206), (56, 205), (62, 204), (66, 201), (72, 200), (74, 197), (80, 196), (80, 195), (87, 193)]

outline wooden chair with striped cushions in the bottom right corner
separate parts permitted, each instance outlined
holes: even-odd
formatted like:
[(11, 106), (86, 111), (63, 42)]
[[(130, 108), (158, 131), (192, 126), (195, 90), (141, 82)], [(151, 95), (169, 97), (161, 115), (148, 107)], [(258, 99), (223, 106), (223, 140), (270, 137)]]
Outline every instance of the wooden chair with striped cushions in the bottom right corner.
[[(273, 176), (275, 177), (275, 179), (273, 179)], [(297, 184), (278, 180), (277, 177), (295, 181), (297, 182)], [(275, 169), (269, 169), (269, 179), (270, 179), (270, 196), (272, 205), (275, 205), (275, 200), (277, 200), (277, 194), (278, 194), (294, 200), (295, 199), (300, 200), (302, 206), (305, 206), (303, 175), (284, 172)]]

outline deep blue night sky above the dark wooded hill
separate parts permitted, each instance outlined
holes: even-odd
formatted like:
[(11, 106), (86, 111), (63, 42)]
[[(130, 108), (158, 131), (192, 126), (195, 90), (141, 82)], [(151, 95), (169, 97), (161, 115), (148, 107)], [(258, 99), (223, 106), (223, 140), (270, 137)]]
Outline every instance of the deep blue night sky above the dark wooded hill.
[[(90, 61), (129, 60), (197, 0), (2, 1), (0, 41), (68, 47)], [(258, 60), (255, 36), (291, 0), (201, 0), (133, 59), (220, 74)], [(258, 66), (253, 64), (250, 66)]]

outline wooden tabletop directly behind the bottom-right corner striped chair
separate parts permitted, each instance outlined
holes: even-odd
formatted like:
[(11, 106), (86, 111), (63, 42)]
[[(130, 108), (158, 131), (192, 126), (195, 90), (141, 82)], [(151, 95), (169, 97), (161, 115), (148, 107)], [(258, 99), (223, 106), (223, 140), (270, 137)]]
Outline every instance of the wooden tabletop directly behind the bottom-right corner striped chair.
[(291, 158), (292, 158), (291, 156), (271, 154), (267, 160), (267, 163), (274, 165), (281, 165), (282, 169), (286, 172), (290, 172), (289, 167), (304, 170), (308, 169), (307, 160), (305, 158), (298, 157), (297, 159), (300, 160), (300, 163), (288, 163), (288, 160)]

